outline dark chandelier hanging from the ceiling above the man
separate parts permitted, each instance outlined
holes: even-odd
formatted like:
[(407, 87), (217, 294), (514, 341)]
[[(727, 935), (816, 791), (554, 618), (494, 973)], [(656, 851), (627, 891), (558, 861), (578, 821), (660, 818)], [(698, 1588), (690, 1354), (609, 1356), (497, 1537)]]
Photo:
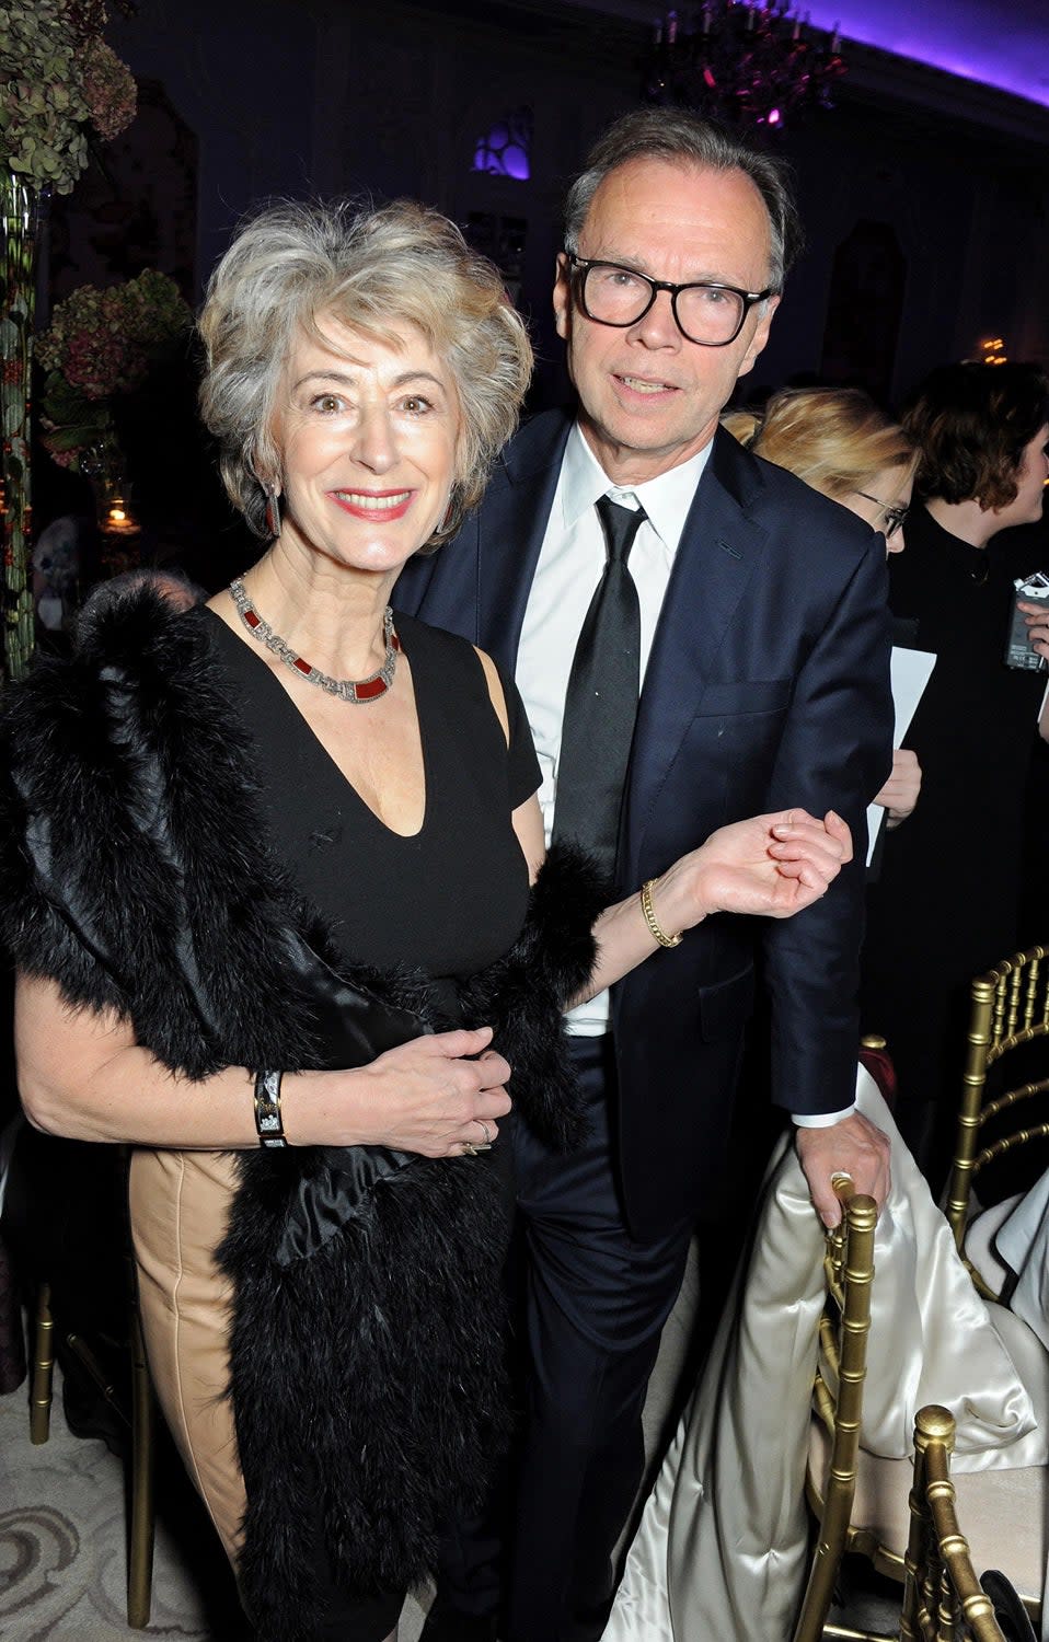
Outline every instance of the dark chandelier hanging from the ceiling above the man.
[(837, 28), (813, 28), (790, 0), (708, 0), (655, 25), (644, 95), (726, 125), (781, 130), (804, 108), (831, 107), (845, 72), (839, 46)]

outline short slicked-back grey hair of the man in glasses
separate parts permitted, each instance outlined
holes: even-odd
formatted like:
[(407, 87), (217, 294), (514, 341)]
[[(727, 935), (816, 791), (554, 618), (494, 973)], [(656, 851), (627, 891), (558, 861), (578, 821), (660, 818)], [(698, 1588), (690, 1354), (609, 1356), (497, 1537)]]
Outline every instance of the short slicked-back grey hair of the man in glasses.
[(601, 182), (630, 159), (665, 159), (703, 171), (745, 172), (768, 212), (768, 284), (773, 291), (783, 289), (786, 273), (803, 245), (788, 166), (685, 108), (637, 108), (616, 120), (598, 138), (586, 156), (586, 169), (571, 184), (565, 200), (565, 246), (570, 251), (579, 250), (583, 223)]

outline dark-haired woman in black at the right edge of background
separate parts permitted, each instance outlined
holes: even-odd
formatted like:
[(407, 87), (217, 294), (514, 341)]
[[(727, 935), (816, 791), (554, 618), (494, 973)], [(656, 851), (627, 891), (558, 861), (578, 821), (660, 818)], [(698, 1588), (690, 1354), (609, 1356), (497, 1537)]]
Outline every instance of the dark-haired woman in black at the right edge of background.
[[(896, 1118), (944, 1177), (973, 975), (1019, 944), (1024, 791), (1044, 675), (1005, 663), (1015, 580), (1044, 566), (1034, 532), (1049, 463), (1049, 383), (1028, 365), (949, 365), (905, 415), (924, 506), (890, 565), (890, 604), (936, 668), (908, 731), (921, 805), (886, 841), (868, 901), (863, 1021), (888, 1038)], [(1029, 608), (1033, 649), (1046, 624)], [(1044, 731), (1042, 731), (1044, 732)], [(916, 1008), (914, 1000), (921, 1000)]]

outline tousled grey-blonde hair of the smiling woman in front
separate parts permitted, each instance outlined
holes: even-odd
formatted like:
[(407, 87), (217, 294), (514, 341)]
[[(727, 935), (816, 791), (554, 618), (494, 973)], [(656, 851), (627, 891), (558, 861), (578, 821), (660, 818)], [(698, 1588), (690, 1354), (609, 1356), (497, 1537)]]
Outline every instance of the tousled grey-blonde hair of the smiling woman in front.
[(415, 325), (448, 366), (461, 427), (450, 507), (432, 544), (447, 540), (481, 499), (532, 373), (525, 327), (497, 268), (455, 223), (414, 200), (287, 200), (240, 228), (200, 312), (200, 410), (218, 440), (230, 499), (261, 537), (269, 535), (266, 486), (281, 475), (277, 392), (295, 337), (317, 335), (320, 315), (387, 346)]

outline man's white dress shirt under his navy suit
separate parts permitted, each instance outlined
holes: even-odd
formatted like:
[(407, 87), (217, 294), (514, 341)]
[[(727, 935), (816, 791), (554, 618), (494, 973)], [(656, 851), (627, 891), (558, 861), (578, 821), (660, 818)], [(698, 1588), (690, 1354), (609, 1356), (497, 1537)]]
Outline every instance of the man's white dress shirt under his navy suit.
[[(612, 484), (604, 473), (579, 432), (578, 422), (568, 435), (547, 534), (525, 606), (515, 673), (543, 778), (538, 801), (543, 811), (547, 844), (550, 842), (557, 801), (568, 675), (579, 631), (607, 557), (594, 502), (601, 496), (611, 496), (621, 507), (637, 509), (640, 506), (647, 514), (647, 521), (634, 539), (629, 558), (640, 608), (640, 681), (644, 686), (652, 640), (678, 544), (709, 453), (711, 447), (706, 445), (688, 461), (670, 468), (668, 473), (624, 489)], [(696, 844), (701, 842), (703, 839), (696, 839)], [(581, 1038), (598, 1038), (607, 1031), (607, 992), (599, 992), (588, 1003), (579, 1003), (566, 1016), (568, 1031)], [(844, 1115), (834, 1112), (816, 1118), (795, 1118), (795, 1121), (822, 1126)]]

